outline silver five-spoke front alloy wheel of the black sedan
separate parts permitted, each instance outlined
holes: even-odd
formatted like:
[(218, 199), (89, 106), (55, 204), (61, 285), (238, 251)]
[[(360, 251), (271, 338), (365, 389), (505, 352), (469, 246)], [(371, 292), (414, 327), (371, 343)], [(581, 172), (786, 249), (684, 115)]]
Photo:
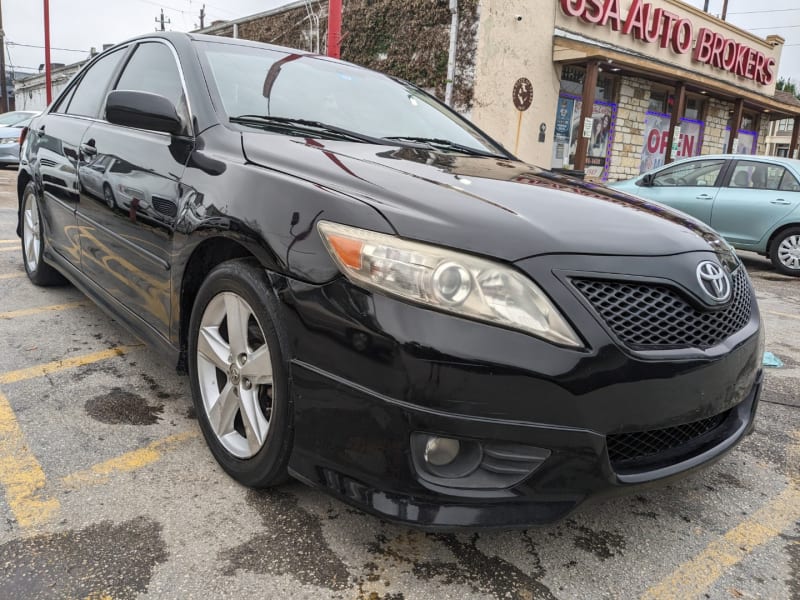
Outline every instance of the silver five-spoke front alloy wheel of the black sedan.
[(269, 433), (272, 359), (258, 318), (238, 294), (217, 294), (203, 312), (197, 377), (220, 444), (237, 458), (255, 456)]

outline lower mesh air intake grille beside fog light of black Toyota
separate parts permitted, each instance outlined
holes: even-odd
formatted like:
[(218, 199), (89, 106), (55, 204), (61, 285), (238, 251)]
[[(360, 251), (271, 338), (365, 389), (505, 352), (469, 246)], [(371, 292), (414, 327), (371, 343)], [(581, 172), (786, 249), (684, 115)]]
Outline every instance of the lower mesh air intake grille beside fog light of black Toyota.
[[(619, 433), (606, 437), (608, 457), (615, 471), (652, 468), (661, 459), (701, 452), (717, 441), (716, 430), (728, 419), (731, 410), (666, 429)], [(670, 461), (674, 462), (674, 461)]]

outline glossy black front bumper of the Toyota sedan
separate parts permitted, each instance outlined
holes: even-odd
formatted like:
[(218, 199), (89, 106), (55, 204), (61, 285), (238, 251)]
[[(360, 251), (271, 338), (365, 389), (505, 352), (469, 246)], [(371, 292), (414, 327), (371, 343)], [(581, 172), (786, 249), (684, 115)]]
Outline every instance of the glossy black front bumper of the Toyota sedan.
[[(590, 498), (707, 465), (752, 427), (763, 351), (755, 305), (722, 349), (648, 355), (614, 343), (579, 303), (567, 312), (587, 339), (576, 351), (344, 280), (273, 283), (293, 357), (290, 471), (387, 520), (445, 529), (551, 522)], [(609, 456), (613, 436), (716, 416), (712, 432), (652, 460), (622, 467)], [(420, 473), (415, 433), (548, 455), (509, 487), (442, 486)]]

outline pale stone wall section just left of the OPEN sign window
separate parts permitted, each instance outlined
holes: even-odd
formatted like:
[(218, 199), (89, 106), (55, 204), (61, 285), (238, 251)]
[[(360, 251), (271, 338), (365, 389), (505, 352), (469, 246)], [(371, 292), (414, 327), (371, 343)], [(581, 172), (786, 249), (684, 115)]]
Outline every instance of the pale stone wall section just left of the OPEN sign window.
[(650, 83), (647, 80), (621, 78), (609, 181), (630, 179), (639, 174), (644, 148), (644, 117), (649, 103)]

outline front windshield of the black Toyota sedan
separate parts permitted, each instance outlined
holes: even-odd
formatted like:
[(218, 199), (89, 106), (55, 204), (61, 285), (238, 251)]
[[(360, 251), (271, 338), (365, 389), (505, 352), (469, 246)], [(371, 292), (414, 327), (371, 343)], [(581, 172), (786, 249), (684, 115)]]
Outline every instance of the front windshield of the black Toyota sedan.
[[(387, 143), (429, 142), (455, 152), (505, 155), (445, 105), (386, 75), (320, 56), (216, 42), (199, 45), (230, 118), (273, 117), (273, 124), (284, 121), (281, 131), (289, 133), (286, 121), (302, 120), (306, 126), (329, 125)], [(266, 123), (262, 120), (261, 126)]]

